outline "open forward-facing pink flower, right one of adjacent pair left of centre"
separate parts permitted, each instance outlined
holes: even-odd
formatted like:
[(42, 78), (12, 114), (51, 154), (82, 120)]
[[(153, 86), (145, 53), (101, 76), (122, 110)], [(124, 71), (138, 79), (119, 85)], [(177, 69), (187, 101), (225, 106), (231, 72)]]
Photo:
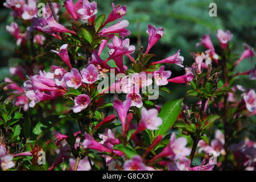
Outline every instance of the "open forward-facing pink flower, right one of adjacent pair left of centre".
[(81, 75), (83, 77), (82, 82), (86, 84), (93, 84), (95, 81), (99, 80), (99, 73), (94, 64), (89, 64), (86, 69), (83, 68)]

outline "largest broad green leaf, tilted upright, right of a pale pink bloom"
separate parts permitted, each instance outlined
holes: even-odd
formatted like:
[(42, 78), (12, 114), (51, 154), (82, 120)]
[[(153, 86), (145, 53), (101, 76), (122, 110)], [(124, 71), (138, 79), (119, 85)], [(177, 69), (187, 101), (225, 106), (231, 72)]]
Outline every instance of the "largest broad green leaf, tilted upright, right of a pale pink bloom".
[(159, 127), (159, 129), (155, 131), (155, 137), (157, 137), (158, 135), (164, 136), (166, 134), (166, 131), (169, 130), (171, 126), (173, 126), (174, 122), (178, 118), (179, 113), (181, 112), (182, 101), (183, 98), (169, 101), (165, 105), (163, 105), (158, 115), (160, 118), (162, 118), (163, 123)]

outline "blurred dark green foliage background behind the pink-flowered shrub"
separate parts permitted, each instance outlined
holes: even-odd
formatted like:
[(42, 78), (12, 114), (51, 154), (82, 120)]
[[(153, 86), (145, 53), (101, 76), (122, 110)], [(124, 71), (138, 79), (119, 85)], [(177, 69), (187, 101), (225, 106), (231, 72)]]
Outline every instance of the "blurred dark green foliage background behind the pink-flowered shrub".
[[(196, 47), (204, 34), (210, 34), (215, 48), (220, 49), (218, 39), (215, 34), (219, 28), (230, 30), (233, 34), (231, 42), (234, 43), (235, 53), (238, 56), (243, 51), (243, 42), (255, 47), (256, 38), (256, 1), (255, 0), (96, 0), (98, 3), (98, 14), (109, 14), (112, 6), (121, 4), (127, 6), (127, 14), (124, 19), (129, 20), (128, 29), (131, 44), (137, 46), (147, 46), (147, 25), (153, 24), (155, 27), (163, 27), (165, 35), (151, 49), (151, 53), (157, 55), (156, 60), (164, 59), (173, 55), (181, 49), (181, 55), (185, 57), (184, 65), (190, 66), (193, 63), (191, 51), (205, 51), (202, 46)], [(6, 25), (13, 22), (10, 10), (3, 7), (3, 0), (0, 3), (0, 82), (9, 75), (8, 64), (15, 59), (15, 40), (6, 31)], [(56, 1), (57, 2), (57, 1)], [(217, 4), (217, 17), (209, 16), (209, 4)], [(62, 7), (62, 12), (63, 7)], [(237, 71), (247, 71), (255, 64), (249, 59), (239, 64)], [(167, 65), (167, 69), (172, 72), (172, 77), (183, 75), (184, 69), (176, 65)], [(255, 87), (255, 82), (249, 81), (246, 76), (238, 80), (239, 84)], [(182, 97), (186, 92), (185, 85), (169, 84), (172, 94), (166, 95), (168, 99)], [(167, 98), (165, 98), (167, 99)]]

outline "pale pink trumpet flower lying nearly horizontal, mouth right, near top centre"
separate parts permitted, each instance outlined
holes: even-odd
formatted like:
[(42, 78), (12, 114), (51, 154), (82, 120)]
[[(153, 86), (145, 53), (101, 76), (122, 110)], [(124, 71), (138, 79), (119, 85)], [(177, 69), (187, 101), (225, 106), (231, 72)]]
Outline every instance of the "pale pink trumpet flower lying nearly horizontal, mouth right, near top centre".
[(121, 36), (128, 36), (131, 34), (131, 32), (126, 29), (128, 25), (129, 25), (129, 22), (127, 20), (122, 20), (121, 22), (118, 22), (113, 26), (110, 26), (108, 28), (103, 28), (103, 30), (99, 32), (99, 34), (100, 35), (119, 34)]

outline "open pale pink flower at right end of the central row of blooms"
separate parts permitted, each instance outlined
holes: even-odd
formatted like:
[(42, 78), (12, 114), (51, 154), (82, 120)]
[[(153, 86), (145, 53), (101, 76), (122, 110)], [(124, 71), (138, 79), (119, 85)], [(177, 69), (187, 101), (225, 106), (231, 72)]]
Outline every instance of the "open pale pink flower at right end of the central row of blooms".
[(158, 71), (155, 71), (153, 77), (155, 78), (155, 83), (159, 86), (167, 85), (167, 79), (171, 76), (171, 71), (164, 71), (165, 66), (161, 66)]

